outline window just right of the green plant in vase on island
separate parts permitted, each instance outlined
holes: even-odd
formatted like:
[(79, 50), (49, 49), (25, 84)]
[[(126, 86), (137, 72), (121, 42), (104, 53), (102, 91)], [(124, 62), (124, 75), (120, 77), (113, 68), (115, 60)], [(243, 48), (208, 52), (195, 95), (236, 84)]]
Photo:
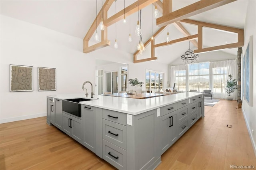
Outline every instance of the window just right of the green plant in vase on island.
[(146, 70), (146, 91), (156, 92), (163, 88), (164, 73)]

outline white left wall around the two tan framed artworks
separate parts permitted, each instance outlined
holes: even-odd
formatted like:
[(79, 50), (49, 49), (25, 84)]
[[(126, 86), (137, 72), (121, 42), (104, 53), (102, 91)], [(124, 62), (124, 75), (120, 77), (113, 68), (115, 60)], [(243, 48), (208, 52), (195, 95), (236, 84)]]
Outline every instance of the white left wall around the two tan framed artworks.
[[(82, 48), (81, 39), (1, 15), (0, 122), (45, 116), (47, 95), (79, 93), (84, 81), (94, 83), (95, 60)], [(34, 91), (10, 92), (10, 64), (34, 67)], [(37, 67), (56, 68), (56, 91), (38, 91)]]

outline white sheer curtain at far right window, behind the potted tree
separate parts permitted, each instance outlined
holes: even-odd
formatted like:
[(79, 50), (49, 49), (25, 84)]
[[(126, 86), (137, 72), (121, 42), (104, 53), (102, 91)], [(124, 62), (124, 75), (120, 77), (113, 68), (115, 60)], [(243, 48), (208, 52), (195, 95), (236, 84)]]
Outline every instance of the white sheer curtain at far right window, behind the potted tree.
[[(237, 60), (211, 61), (210, 62), (210, 89), (214, 93), (214, 98), (225, 99), (227, 93), (224, 89), (228, 75), (232, 75), (232, 79), (237, 79), (238, 74)], [(216, 82), (219, 84), (216, 85)], [(218, 86), (218, 88), (217, 88)], [(237, 99), (237, 90), (232, 94), (234, 99)]]

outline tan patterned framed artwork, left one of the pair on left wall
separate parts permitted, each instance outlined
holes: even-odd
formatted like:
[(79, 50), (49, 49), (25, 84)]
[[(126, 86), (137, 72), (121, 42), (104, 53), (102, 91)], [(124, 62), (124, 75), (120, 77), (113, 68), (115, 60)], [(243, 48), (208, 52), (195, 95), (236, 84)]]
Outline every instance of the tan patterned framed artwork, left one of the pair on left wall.
[(33, 66), (10, 64), (10, 92), (33, 91)]

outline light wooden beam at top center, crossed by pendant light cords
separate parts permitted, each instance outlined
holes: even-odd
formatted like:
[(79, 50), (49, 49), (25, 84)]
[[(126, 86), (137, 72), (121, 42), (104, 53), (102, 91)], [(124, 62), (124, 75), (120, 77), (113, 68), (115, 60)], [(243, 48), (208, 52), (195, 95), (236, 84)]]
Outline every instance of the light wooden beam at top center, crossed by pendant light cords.
[[(134, 2), (133, 4), (125, 8), (125, 16), (129, 16), (135, 12), (138, 12), (138, 9), (141, 10), (142, 8), (145, 8), (146, 6), (156, 1), (158, 0), (139, 0), (139, 8), (138, 8), (138, 2)], [(111, 26), (112, 24), (115, 24), (119, 20), (122, 20), (123, 18), (124, 18), (124, 9), (114, 14), (107, 20), (105, 20), (104, 24), (105, 26), (108, 27), (108, 26)]]

